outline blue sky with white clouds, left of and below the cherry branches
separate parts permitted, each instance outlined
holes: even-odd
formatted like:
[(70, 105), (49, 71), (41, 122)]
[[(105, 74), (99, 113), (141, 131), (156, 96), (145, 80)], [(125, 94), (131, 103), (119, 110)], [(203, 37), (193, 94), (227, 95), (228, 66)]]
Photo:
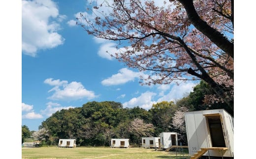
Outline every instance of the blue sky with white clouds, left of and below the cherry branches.
[(22, 125), (30, 130), (58, 110), (89, 101), (148, 110), (153, 103), (188, 95), (195, 85), (141, 86), (139, 76), (147, 72), (111, 58), (105, 52), (116, 50), (113, 42), (75, 25), (88, 1), (22, 0)]

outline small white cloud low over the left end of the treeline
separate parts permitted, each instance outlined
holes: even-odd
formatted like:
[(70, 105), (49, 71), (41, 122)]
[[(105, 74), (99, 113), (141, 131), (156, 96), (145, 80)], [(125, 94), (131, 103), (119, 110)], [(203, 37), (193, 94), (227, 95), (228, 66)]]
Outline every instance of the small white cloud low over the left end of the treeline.
[(73, 106), (63, 107), (63, 106), (61, 106), (61, 104), (54, 103), (54, 102), (48, 102), (48, 103), (46, 103), (46, 105), (47, 105), (47, 107), (44, 110), (41, 110), (40, 112), (48, 117), (50, 117), (53, 113), (56, 113), (59, 110), (75, 108)]

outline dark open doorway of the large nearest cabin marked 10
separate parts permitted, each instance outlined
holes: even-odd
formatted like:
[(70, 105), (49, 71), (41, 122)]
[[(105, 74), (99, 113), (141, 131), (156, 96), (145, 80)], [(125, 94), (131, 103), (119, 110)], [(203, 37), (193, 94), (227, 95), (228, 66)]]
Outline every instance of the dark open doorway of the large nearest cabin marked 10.
[(221, 116), (208, 116), (208, 127), (212, 140), (212, 147), (226, 147)]

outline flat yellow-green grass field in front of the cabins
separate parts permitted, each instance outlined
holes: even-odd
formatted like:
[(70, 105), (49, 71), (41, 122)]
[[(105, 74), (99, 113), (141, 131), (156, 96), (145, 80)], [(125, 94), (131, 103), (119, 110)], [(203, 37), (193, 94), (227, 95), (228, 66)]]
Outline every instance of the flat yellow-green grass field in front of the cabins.
[(22, 159), (189, 159), (188, 153), (144, 148), (22, 148)]

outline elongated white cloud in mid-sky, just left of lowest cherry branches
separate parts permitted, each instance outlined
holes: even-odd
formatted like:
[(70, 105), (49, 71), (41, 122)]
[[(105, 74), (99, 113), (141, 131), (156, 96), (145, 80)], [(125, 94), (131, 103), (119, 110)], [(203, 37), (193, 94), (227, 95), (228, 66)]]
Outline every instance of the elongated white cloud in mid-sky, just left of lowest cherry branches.
[(143, 73), (122, 68), (119, 70), (119, 73), (101, 81), (101, 84), (104, 86), (125, 84), (129, 81), (134, 81), (136, 78), (140, 78), (140, 75), (143, 75)]

